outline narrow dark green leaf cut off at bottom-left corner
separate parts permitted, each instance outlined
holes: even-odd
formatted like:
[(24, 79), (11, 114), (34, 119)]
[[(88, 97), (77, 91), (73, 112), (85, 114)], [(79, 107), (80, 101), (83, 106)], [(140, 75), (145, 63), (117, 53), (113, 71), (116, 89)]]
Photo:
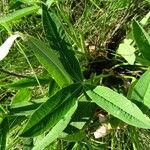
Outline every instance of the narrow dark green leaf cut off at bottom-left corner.
[(9, 131), (8, 120), (5, 118), (0, 124), (0, 150), (5, 150), (7, 142), (7, 134)]

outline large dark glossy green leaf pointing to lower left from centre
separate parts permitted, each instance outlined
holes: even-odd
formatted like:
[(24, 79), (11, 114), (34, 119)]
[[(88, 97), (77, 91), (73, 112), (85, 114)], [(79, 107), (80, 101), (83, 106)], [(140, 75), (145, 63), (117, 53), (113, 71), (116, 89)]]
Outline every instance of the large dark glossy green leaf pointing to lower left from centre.
[(73, 84), (53, 95), (33, 113), (22, 136), (36, 136), (52, 128), (75, 103), (80, 92), (80, 84)]

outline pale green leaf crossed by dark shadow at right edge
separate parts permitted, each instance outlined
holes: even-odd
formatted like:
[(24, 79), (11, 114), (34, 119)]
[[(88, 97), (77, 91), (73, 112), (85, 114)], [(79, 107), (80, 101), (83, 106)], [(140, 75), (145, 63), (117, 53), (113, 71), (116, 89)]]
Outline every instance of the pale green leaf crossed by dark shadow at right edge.
[(132, 90), (131, 100), (142, 102), (150, 108), (150, 69), (147, 70)]

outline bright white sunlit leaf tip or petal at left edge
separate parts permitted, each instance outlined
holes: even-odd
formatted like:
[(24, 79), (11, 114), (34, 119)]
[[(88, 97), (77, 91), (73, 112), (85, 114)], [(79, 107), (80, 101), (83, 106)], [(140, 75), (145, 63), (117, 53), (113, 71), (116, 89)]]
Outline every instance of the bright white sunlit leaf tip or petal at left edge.
[(19, 37), (19, 35), (11, 35), (1, 46), (0, 46), (0, 60), (3, 60), (7, 54), (14, 41)]

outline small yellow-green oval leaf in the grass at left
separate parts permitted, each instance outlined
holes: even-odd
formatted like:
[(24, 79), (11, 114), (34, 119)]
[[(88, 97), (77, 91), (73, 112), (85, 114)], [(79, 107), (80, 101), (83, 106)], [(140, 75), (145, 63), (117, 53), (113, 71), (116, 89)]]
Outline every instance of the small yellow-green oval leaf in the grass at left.
[(12, 100), (11, 106), (21, 103), (28, 102), (31, 99), (32, 93), (29, 89), (21, 89), (17, 92), (15, 97)]

